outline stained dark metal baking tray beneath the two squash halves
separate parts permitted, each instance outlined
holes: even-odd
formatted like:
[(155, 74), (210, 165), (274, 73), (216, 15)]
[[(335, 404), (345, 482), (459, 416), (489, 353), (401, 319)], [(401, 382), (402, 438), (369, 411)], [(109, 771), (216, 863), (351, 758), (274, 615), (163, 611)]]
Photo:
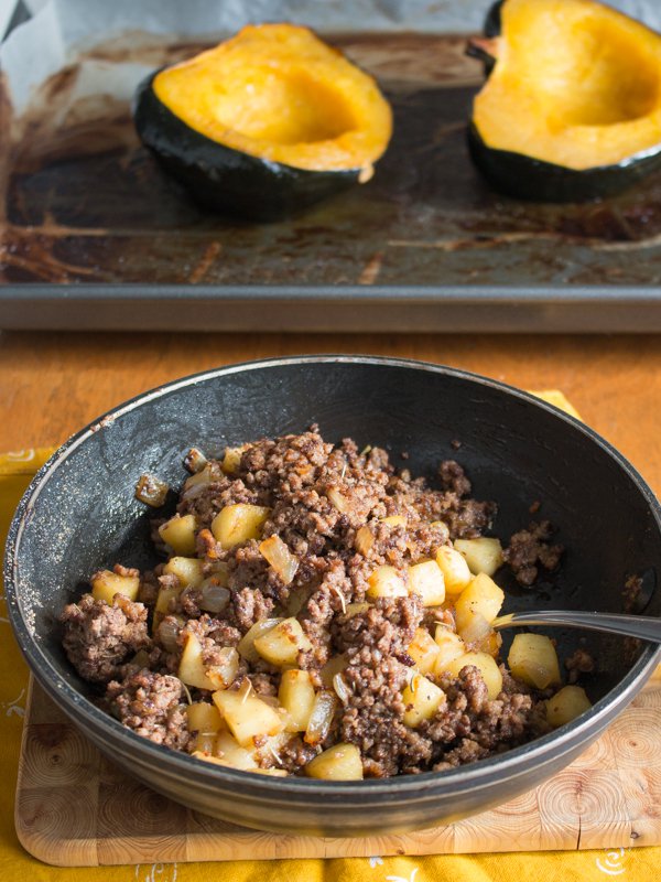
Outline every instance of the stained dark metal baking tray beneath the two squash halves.
[(0, 327), (661, 331), (661, 175), (585, 205), (499, 196), (466, 149), (483, 79), (466, 37), (437, 14), (397, 24), (327, 29), (378, 77), (394, 136), (371, 182), (282, 223), (203, 213), (140, 147), (128, 98), (75, 98), (85, 63), (155, 67), (204, 40), (110, 40), (18, 122), (2, 101)]

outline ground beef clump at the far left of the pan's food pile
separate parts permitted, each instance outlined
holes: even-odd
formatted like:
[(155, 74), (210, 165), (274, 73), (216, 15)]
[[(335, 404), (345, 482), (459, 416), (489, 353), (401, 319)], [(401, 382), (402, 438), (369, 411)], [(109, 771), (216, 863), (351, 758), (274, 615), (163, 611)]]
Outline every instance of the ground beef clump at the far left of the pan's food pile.
[(131, 653), (150, 644), (147, 607), (122, 594), (115, 595), (111, 606), (84, 594), (78, 603), (65, 606), (59, 621), (69, 662), (84, 679), (93, 682), (115, 677)]

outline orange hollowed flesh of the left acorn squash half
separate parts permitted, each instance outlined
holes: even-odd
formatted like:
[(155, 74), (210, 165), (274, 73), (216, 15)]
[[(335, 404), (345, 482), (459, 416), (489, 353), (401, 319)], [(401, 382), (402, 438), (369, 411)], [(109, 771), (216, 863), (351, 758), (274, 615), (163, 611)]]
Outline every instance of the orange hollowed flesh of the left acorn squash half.
[(392, 132), (376, 82), (306, 28), (261, 24), (154, 78), (195, 131), (297, 169), (371, 170)]

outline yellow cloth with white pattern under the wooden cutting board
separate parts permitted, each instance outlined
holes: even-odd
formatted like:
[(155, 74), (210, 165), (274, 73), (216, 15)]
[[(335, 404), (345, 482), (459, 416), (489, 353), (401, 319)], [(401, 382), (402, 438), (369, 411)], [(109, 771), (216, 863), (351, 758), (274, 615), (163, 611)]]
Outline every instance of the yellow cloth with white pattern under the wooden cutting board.
[[(557, 392), (543, 397), (564, 406)], [(568, 409), (568, 408), (567, 408)], [(573, 411), (575, 413), (575, 411)], [(50, 451), (0, 455), (0, 533), (31, 476)], [(4, 601), (0, 604), (0, 880), (2, 882), (597, 882), (619, 875), (622, 882), (651, 882), (661, 864), (661, 847), (599, 851), (538, 851), (509, 854), (446, 854), (415, 858), (351, 858), (218, 863), (143, 863), (104, 868), (48, 867), (28, 854), (13, 826), (13, 799), (28, 668), (12, 639)]]

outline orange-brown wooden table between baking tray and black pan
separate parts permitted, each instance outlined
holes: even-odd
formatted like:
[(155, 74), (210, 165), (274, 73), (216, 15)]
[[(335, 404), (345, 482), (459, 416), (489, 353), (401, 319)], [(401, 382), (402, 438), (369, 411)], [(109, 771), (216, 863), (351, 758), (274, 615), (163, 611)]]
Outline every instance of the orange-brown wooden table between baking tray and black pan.
[[(204, 316), (201, 316), (201, 322)], [(661, 336), (0, 335), (0, 450), (58, 444), (120, 401), (231, 362), (299, 353), (421, 358), (560, 388), (661, 494)]]

